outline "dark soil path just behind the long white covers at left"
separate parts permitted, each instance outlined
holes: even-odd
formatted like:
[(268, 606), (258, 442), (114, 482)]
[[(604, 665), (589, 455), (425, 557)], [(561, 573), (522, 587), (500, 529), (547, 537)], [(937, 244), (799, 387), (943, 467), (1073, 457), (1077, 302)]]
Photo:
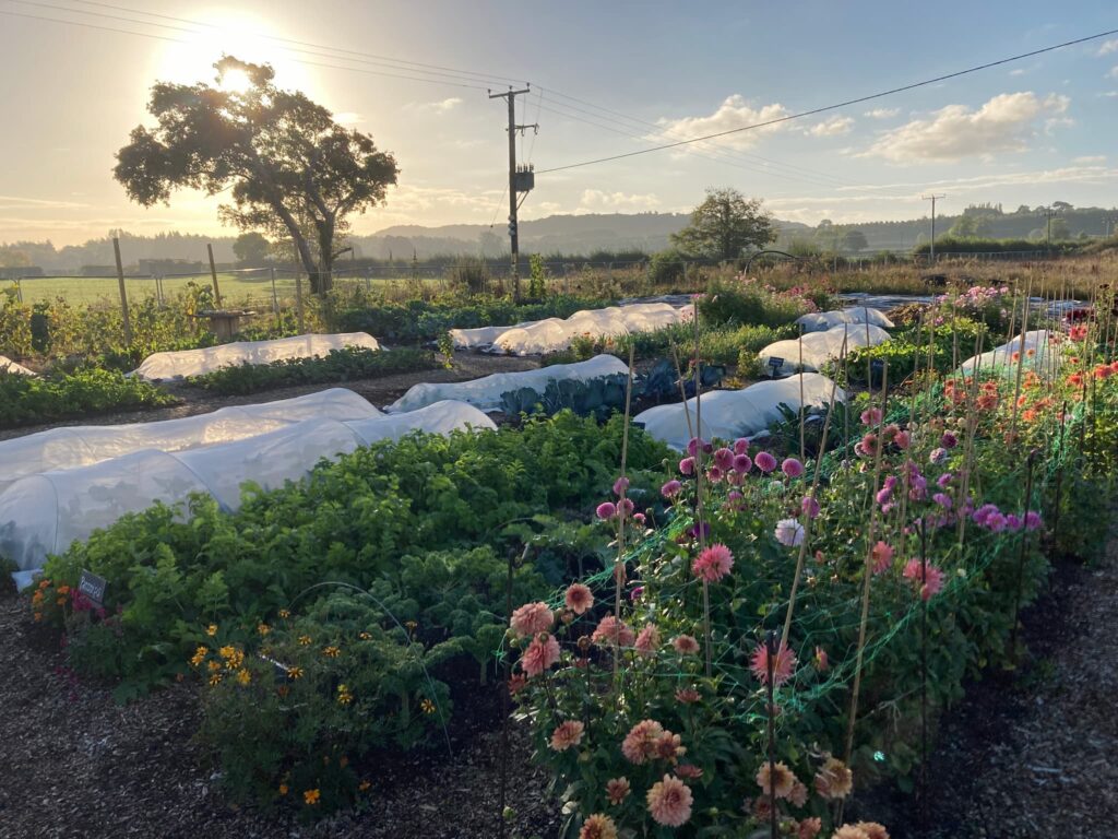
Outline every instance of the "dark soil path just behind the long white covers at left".
[(303, 396), (330, 387), (345, 387), (353, 390), (371, 402), (378, 408), (396, 402), (407, 393), (408, 388), (421, 381), (433, 384), (443, 381), (466, 381), (494, 373), (515, 373), (519, 370), (534, 370), (540, 366), (538, 357), (520, 358), (517, 356), (487, 356), (480, 352), (456, 352), (454, 356), (454, 368), (419, 370), (416, 373), (397, 373), (390, 376), (382, 376), (375, 379), (357, 379), (353, 381), (340, 381), (329, 385), (295, 385), (293, 387), (281, 387), (274, 390), (262, 390), (260, 393), (247, 396), (220, 396), (202, 390), (197, 387), (188, 387), (181, 383), (164, 383), (164, 390), (182, 399), (179, 405), (165, 408), (153, 408), (150, 411), (119, 412), (113, 414), (85, 415), (73, 420), (60, 420), (44, 425), (25, 425), (19, 428), (0, 428), (0, 440), (19, 437), (25, 434), (34, 434), (39, 431), (57, 428), (63, 425), (116, 425), (120, 423), (150, 423), (158, 420), (178, 420), (183, 416), (205, 414), (217, 411), (229, 405), (250, 405), (258, 402), (273, 402), (275, 399), (290, 399), (293, 396)]

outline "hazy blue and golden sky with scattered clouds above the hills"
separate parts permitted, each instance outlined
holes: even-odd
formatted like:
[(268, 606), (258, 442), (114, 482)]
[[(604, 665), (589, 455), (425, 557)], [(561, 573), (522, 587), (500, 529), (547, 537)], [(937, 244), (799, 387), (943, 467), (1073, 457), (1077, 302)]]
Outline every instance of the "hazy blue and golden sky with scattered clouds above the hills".
[[(45, 20), (49, 18), (50, 20)], [(73, 21), (70, 23), (57, 22)], [(146, 21), (146, 22), (140, 22)], [(155, 81), (266, 60), (399, 163), (357, 233), (508, 215), (504, 100), (537, 169), (522, 218), (688, 211), (710, 187), (815, 224), (1001, 202), (1118, 205), (1118, 35), (717, 141), (598, 158), (823, 107), (1118, 28), (1112, 1), (795, 3), (0, 0), (0, 242), (235, 233), (220, 196), (145, 209), (114, 153)], [(126, 30), (126, 31), (120, 31)], [(15, 82), (15, 83), (12, 83)], [(544, 171), (558, 169), (558, 171)]]

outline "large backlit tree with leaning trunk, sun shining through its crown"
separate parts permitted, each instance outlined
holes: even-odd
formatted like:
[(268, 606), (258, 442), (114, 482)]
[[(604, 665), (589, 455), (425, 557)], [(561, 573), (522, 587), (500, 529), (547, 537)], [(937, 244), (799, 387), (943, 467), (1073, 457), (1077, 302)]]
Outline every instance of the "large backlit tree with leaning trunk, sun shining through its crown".
[(290, 237), (312, 291), (323, 292), (347, 218), (383, 201), (396, 159), (302, 93), (276, 87), (269, 65), (225, 56), (214, 66), (215, 85), (152, 87), (158, 125), (133, 129), (113, 173), (145, 207), (170, 202), (172, 189), (229, 190), (222, 219)]

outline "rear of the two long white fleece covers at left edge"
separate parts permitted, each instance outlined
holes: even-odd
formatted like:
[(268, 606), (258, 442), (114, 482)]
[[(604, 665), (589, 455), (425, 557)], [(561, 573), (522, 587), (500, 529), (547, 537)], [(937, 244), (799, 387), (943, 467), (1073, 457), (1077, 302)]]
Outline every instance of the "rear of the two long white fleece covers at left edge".
[(0, 490), (38, 472), (87, 466), (142, 449), (182, 452), (230, 443), (319, 416), (368, 420), (380, 416), (380, 412), (352, 390), (332, 387), (293, 399), (236, 405), (180, 420), (50, 428), (0, 441)]

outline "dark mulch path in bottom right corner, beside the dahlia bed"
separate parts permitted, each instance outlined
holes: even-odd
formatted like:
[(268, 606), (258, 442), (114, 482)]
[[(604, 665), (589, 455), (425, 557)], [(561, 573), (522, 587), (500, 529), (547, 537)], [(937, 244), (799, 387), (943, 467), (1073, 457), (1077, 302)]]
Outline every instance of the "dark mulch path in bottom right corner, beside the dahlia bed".
[(1093, 566), (1058, 563), (1024, 615), (1029, 656), (950, 709), (928, 767), (928, 831), (909, 796), (859, 808), (893, 839), (1118, 837), (1118, 539)]

